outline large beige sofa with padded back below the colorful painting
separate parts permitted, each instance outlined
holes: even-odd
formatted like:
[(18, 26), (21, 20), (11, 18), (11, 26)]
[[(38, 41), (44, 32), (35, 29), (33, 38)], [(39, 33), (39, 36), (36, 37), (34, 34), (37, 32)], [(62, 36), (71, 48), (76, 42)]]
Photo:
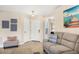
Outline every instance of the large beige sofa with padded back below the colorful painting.
[(55, 32), (57, 43), (44, 41), (44, 51), (49, 54), (77, 54), (79, 53), (79, 35)]

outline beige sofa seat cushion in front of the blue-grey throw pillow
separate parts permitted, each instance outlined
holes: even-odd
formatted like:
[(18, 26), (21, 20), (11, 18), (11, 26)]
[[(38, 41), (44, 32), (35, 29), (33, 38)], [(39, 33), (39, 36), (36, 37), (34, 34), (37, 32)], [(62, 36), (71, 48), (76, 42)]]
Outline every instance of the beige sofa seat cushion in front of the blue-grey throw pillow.
[(63, 46), (63, 45), (53, 45), (49, 48), (49, 51), (51, 53), (55, 53), (55, 54), (58, 54), (58, 53), (63, 53), (63, 52), (66, 52), (66, 51), (71, 51), (72, 49), (66, 47), (66, 46)]

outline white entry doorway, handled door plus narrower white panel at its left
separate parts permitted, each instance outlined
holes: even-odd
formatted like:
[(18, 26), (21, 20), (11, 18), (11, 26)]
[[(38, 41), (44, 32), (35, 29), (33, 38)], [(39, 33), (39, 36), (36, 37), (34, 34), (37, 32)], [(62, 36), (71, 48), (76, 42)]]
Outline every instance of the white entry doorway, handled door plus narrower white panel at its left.
[(33, 19), (27, 18), (24, 21), (24, 40), (30, 41), (43, 41), (42, 35), (42, 24), (41, 24), (41, 18), (35, 17)]

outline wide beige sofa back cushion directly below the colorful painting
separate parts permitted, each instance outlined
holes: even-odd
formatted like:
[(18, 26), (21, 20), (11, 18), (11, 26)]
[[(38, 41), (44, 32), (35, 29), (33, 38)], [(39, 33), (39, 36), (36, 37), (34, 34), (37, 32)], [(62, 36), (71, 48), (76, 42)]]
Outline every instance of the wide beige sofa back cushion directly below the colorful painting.
[(78, 38), (78, 35), (76, 35), (76, 34), (64, 33), (61, 44), (65, 45), (71, 49), (74, 49), (77, 38)]

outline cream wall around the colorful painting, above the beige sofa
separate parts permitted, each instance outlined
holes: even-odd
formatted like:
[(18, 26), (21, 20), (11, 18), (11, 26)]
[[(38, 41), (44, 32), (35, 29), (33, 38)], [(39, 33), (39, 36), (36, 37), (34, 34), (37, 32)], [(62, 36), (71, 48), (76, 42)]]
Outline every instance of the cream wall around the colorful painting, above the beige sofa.
[(55, 10), (55, 13), (53, 14), (53, 16), (55, 16), (54, 17), (55, 31), (79, 34), (79, 28), (64, 28), (63, 11), (71, 7), (72, 7), (71, 5), (63, 5)]

